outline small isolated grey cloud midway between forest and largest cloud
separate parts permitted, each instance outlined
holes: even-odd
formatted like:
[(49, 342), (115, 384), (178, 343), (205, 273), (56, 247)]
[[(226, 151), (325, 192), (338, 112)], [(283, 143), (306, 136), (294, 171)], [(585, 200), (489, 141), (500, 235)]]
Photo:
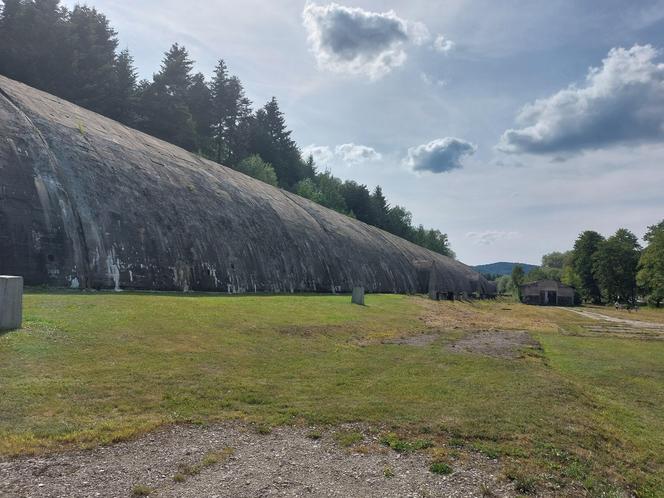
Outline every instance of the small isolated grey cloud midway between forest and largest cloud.
[(461, 168), (463, 159), (473, 155), (476, 150), (477, 147), (470, 142), (460, 138), (445, 137), (411, 147), (404, 162), (413, 171), (444, 173)]

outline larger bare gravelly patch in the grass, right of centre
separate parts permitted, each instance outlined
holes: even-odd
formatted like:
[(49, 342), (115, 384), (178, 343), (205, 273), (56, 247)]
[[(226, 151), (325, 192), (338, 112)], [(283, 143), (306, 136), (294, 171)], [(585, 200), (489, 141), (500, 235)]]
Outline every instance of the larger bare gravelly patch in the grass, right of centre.
[(495, 358), (520, 358), (524, 350), (536, 350), (540, 344), (528, 332), (483, 330), (471, 332), (449, 345), (450, 351), (475, 353)]

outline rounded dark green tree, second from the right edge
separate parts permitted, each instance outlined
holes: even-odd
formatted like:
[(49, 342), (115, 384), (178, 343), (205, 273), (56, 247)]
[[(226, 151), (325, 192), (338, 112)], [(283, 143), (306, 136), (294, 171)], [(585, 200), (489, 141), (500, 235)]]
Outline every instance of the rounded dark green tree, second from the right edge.
[(593, 275), (609, 301), (636, 299), (640, 251), (636, 235), (624, 228), (599, 243), (593, 255)]

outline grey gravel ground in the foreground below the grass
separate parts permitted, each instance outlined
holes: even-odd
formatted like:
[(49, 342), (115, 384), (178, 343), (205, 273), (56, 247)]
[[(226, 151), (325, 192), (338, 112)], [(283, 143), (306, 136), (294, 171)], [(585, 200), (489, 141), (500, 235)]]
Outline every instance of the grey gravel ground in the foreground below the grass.
[[(515, 496), (495, 460), (468, 455), (452, 462), (451, 475), (438, 475), (426, 452), (399, 454), (364, 434), (344, 449), (329, 431), (312, 439), (310, 429), (290, 427), (259, 434), (239, 424), (172, 426), (94, 450), (0, 461), (0, 496)], [(221, 457), (206, 460), (210, 452)]]

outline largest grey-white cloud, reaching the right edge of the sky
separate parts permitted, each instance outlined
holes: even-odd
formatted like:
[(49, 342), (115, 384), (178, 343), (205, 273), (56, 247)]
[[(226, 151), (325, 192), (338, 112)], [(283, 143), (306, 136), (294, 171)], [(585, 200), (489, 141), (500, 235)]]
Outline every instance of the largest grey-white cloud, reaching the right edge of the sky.
[(559, 157), (664, 139), (664, 64), (651, 45), (614, 48), (583, 85), (526, 105), (498, 150)]

